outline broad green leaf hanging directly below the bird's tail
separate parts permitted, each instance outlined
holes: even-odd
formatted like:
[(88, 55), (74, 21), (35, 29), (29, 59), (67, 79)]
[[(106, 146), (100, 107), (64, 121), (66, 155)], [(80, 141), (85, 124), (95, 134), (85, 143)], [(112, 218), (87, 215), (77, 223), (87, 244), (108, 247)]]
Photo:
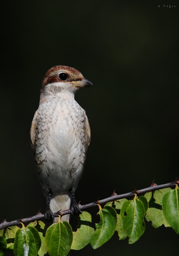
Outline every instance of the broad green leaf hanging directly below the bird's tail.
[(51, 256), (66, 256), (70, 251), (72, 241), (72, 228), (66, 221), (54, 223), (47, 229), (45, 244)]

